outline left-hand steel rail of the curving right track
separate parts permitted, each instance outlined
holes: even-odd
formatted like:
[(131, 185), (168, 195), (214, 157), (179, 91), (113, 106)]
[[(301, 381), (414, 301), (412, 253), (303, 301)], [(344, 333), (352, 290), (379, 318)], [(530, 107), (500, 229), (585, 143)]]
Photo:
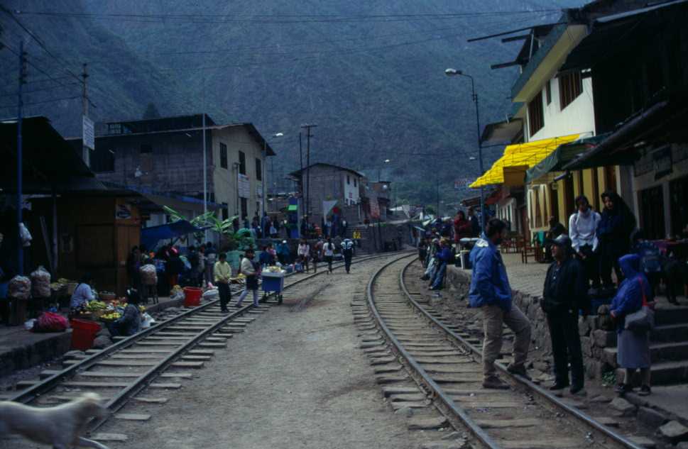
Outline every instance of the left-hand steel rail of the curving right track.
[[(387, 267), (403, 259), (404, 257), (399, 257), (398, 259), (392, 260), (391, 262), (388, 262), (382, 267), (380, 267), (373, 274), (371, 279), (368, 281), (368, 307), (370, 307), (371, 311), (373, 312), (373, 316), (375, 316), (376, 321), (378, 322), (378, 326), (380, 326), (380, 328), (386, 334), (387, 340), (389, 340), (394, 345), (397, 352), (405, 358), (406, 362), (408, 362), (408, 364), (413, 368), (413, 370), (415, 370), (415, 372), (417, 372), (417, 374), (420, 375), (420, 377), (422, 377), (422, 381), (425, 382), (425, 384), (427, 384), (427, 386), (430, 387), (430, 389), (432, 389), (432, 392), (435, 394), (435, 396), (438, 397), (444, 403), (444, 405), (447, 406), (450, 411), (452, 411), (454, 415), (459, 416), (461, 421), (463, 421), (464, 424), (468, 426), (471, 433), (473, 433), (474, 436), (481, 441), (481, 443), (483, 443), (490, 449), (501, 449), (501, 446), (498, 445), (496, 441), (491, 438), (491, 436), (488, 436), (488, 434), (480, 426), (478, 426), (475, 423), (475, 421), (473, 421), (473, 419), (466, 413), (464, 409), (462, 409), (462, 407), (458, 406), (457, 403), (454, 402), (454, 400), (451, 397), (444, 393), (442, 387), (440, 387), (439, 384), (437, 384), (437, 382), (435, 382), (435, 380), (433, 380), (432, 377), (430, 377), (430, 375), (427, 373), (427, 371), (425, 371), (425, 369), (420, 365), (420, 363), (418, 363), (415, 360), (415, 357), (408, 353), (408, 351), (403, 347), (402, 343), (400, 343), (400, 341), (396, 338), (394, 333), (387, 327), (382, 316), (380, 316), (380, 313), (378, 312), (378, 309), (375, 305), (375, 301), (373, 299), (373, 284), (378, 278), (378, 276), (381, 275)], [(408, 267), (408, 265), (413, 263), (414, 260), (415, 259), (408, 262), (406, 266)], [(404, 270), (401, 271), (402, 276), (403, 272)]]

